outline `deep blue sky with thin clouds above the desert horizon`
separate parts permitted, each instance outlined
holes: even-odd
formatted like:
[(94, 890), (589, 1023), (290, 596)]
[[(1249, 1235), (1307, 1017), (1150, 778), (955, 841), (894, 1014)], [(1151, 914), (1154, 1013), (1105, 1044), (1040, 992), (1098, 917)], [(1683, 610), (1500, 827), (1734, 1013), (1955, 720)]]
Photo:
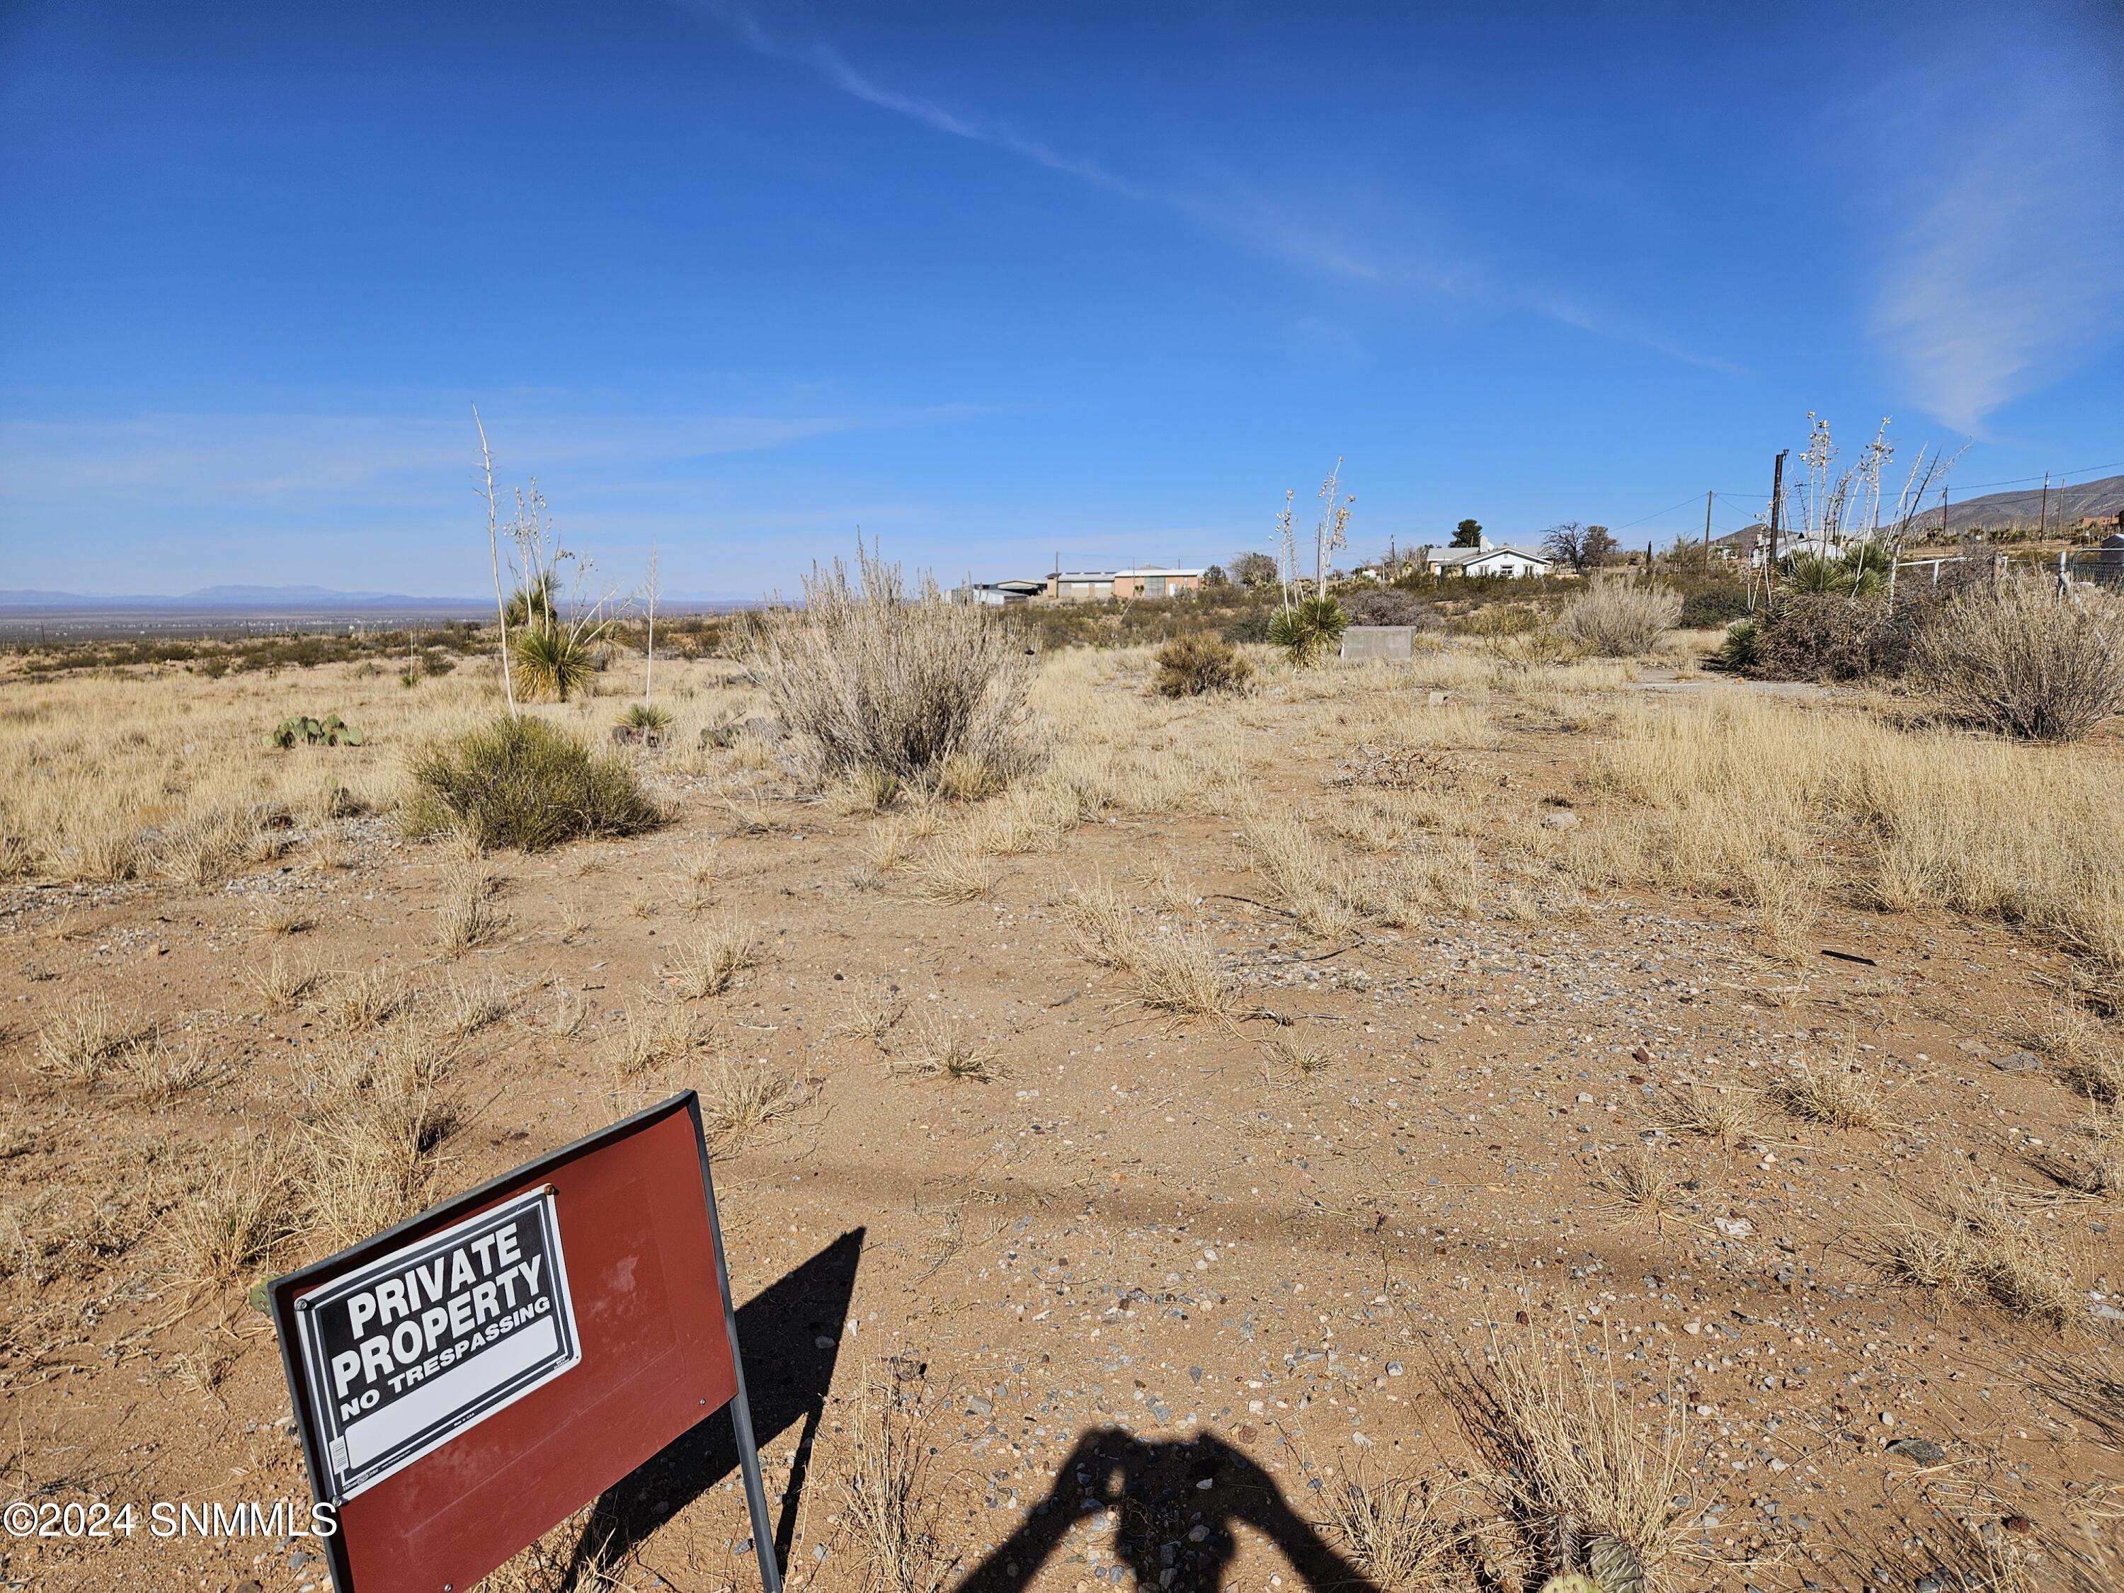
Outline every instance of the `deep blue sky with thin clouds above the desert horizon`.
[[(2124, 8), (0, 6), (0, 586), (1731, 529), (2124, 469)], [(2107, 469), (2103, 469), (2107, 467)]]

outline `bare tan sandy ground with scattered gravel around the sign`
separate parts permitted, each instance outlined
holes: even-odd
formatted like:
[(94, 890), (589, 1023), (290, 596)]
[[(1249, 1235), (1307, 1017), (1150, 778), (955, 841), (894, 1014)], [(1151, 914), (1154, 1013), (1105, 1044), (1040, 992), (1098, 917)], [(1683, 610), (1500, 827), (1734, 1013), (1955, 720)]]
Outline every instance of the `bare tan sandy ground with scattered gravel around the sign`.
[[(187, 1287), (166, 1234), (225, 1147), (299, 1130), (331, 992), (378, 966), (414, 992), (378, 1043), (433, 1026), (452, 983), (506, 1005), (450, 1043), (444, 1192), (731, 1062), (801, 1081), (794, 1111), (716, 1162), (792, 1585), (860, 1582), (843, 1521), (856, 1395), (894, 1376), (932, 1423), (920, 1504), (943, 1559), (994, 1557), (998, 1587), (1319, 1580), (1308, 1534), (1347, 1548), (1321, 1525), (1338, 1478), (1480, 1472), (1451, 1372), (1514, 1344), (1582, 1347), (1638, 1419), (1684, 1421), (1695, 1559), (1665, 1587), (1856, 1589), (1873, 1568), (1916, 1587), (1950, 1563), (1956, 1523), (2075, 1540), (2124, 1483), (2103, 1434), (2031, 1383), (2060, 1347), (2105, 1353), (2118, 1315), (2116, 1206), (2050, 1198), (2035, 1170), (2088, 1102), (2011, 1064), (2018, 1026), (2069, 981), (2060, 954), (1999, 924), (1829, 903), (1791, 966), (1727, 901), (1557, 884), (1529, 856), (1633, 820), (1578, 780), (1597, 729), (1510, 680), (1368, 671), (1334, 697), (1270, 680), (1168, 705), (1141, 658), (1073, 669), (1070, 701), (1102, 716), (1083, 756), (1215, 760), (1030, 850), (998, 845), (969, 901), (937, 901), (884, 837), (901, 826), (920, 858), (994, 803), (852, 811), (746, 746), (639, 754), (673, 801), (658, 833), (489, 858), (499, 922), (457, 958), (435, 924), (463, 864), (399, 841), (389, 813), (321, 820), (208, 886), (6, 886), (8, 1497), (306, 1497), (253, 1279)], [(1627, 695), (1627, 675), (1585, 690)], [(739, 703), (716, 680), (697, 665), (680, 690)], [(1421, 758), (1483, 873), (1459, 905), (1306, 935), (1249, 867), (1234, 803), (1361, 794), (1351, 716), (1378, 692), (1466, 709)], [(372, 769), (401, 756), (363, 752)], [(342, 867), (314, 867), (323, 828)], [(1087, 962), (1068, 892), (1094, 879), (1145, 932), (1213, 937), (1238, 1015), (1147, 1011)], [(285, 901), (299, 911), (282, 930), (308, 922), (276, 935)], [(726, 924), (752, 928), (756, 966), (684, 1003), (673, 958)], [(282, 1011), (246, 977), (274, 956), (323, 975)], [(55, 1081), (38, 1037), (83, 994), (204, 1041), (215, 1077), (166, 1102), (117, 1073)], [(864, 1003), (890, 1017), (881, 1039), (845, 1032)], [(675, 1009), (699, 1043), (624, 1077), (627, 1024)], [(996, 1077), (907, 1066), (945, 1041)], [(1884, 1126), (1759, 1102), (1795, 1058), (1835, 1056), (1886, 1085)], [(1674, 1128), (1665, 1107), (1693, 1083), (1759, 1102), (1759, 1128)], [(1680, 1185), (1663, 1209), (1631, 1196), (1644, 1155)], [(1884, 1279), (1882, 1223), (1969, 1177), (2026, 1192), (2018, 1219), (2092, 1291), (2062, 1334)], [(327, 1249), (297, 1238), (272, 1270)], [(1468, 1508), (1485, 1512), (1480, 1493)], [(616, 1534), (610, 1585), (754, 1585), (720, 1436), (571, 1523), (563, 1559), (584, 1527)], [(2043, 1563), (2031, 1587), (2069, 1585)], [(38, 1589), (321, 1585), (314, 1544), (285, 1538), (11, 1538), (0, 1565)]]

